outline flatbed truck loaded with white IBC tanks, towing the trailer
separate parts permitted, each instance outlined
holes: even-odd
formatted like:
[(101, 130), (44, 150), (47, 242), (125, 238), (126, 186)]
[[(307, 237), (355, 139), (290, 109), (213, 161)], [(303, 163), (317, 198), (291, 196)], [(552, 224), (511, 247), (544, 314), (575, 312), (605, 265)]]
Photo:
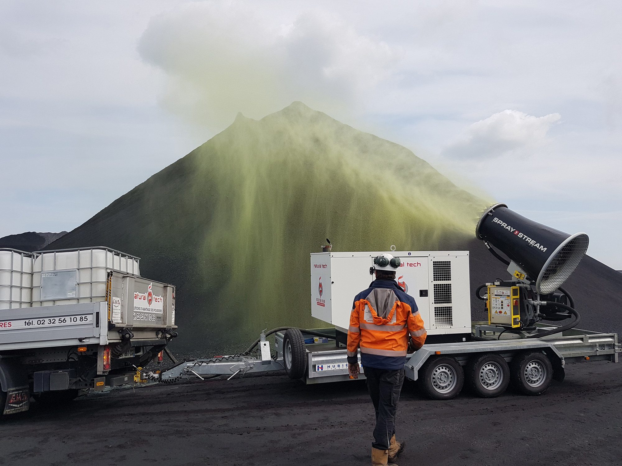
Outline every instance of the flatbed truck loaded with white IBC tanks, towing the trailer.
[(141, 378), (177, 336), (175, 286), (108, 247), (0, 249), (3, 414)]

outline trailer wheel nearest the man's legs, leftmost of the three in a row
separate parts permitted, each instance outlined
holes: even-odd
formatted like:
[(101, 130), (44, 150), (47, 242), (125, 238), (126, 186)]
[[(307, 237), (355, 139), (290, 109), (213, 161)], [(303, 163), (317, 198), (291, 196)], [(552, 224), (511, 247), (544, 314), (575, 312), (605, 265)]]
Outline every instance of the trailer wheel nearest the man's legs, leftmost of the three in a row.
[(433, 400), (451, 400), (460, 393), (465, 375), (457, 360), (450, 357), (429, 359), (419, 369), (419, 388)]

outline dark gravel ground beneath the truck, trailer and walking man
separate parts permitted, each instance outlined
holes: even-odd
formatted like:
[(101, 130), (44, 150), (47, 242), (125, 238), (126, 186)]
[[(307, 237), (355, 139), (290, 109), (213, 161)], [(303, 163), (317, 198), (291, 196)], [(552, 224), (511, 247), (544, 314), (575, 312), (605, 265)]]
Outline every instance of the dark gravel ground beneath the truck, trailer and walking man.
[[(622, 364), (569, 364), (542, 396), (402, 390), (399, 465), (620, 465)], [(2, 465), (366, 465), (363, 381), (286, 376), (152, 385), (37, 406), (0, 422)]]

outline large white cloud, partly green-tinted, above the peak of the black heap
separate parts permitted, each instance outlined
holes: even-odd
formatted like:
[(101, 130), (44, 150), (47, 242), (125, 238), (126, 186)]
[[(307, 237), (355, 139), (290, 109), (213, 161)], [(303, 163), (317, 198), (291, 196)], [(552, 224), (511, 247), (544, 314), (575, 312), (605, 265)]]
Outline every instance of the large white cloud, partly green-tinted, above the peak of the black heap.
[(301, 100), (324, 111), (356, 106), (391, 73), (399, 50), (335, 14), (271, 16), (244, 2), (184, 5), (154, 18), (141, 56), (169, 76), (162, 103), (222, 129)]

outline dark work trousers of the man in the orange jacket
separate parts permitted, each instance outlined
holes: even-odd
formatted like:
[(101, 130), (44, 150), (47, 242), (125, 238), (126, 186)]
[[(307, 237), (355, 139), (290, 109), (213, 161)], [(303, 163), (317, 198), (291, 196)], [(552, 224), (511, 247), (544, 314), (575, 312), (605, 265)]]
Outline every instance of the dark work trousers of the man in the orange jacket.
[(363, 367), (367, 379), (367, 390), (376, 410), (376, 427), (371, 446), (388, 450), (391, 437), (395, 434), (395, 413), (399, 392), (404, 383), (404, 369), (386, 370)]

